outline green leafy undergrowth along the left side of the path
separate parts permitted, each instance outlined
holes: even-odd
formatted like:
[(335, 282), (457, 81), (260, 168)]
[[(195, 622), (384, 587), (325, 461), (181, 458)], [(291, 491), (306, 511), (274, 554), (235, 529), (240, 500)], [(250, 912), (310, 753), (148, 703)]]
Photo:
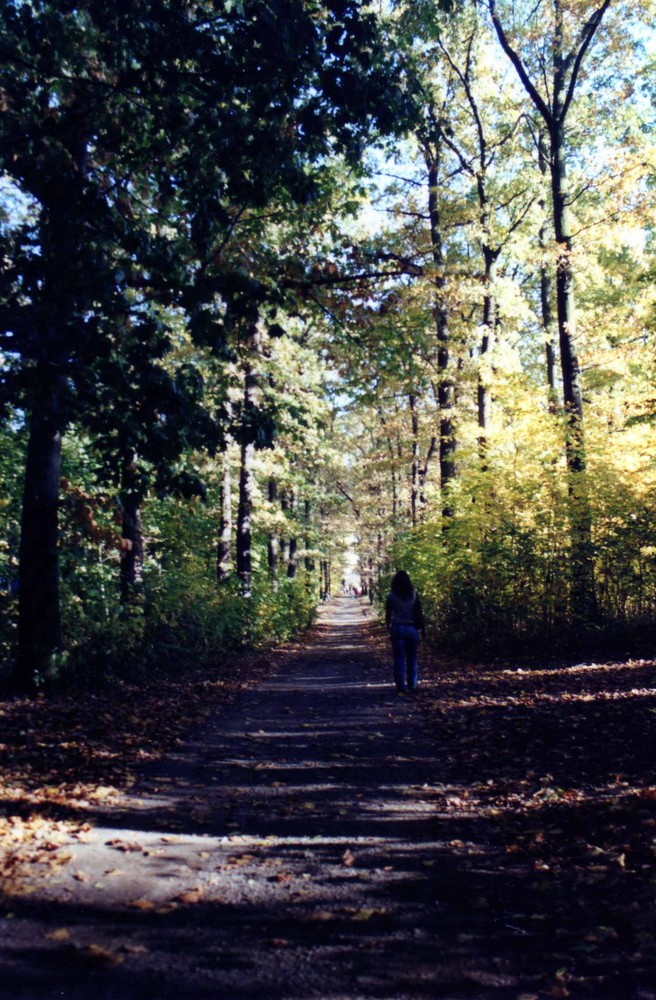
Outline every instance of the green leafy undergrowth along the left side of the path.
[[(136, 596), (121, 603), (118, 549), (107, 536), (94, 541), (88, 516), (81, 524), (76, 513), (69, 510), (62, 538), (66, 649), (42, 684), (94, 687), (199, 666), (229, 676), (240, 651), (265, 648), (314, 618), (317, 583), (305, 573), (275, 588), (258, 576), (248, 599), (236, 581), (218, 586), (211, 513), (198, 501), (170, 498), (145, 509), (142, 578)], [(7, 625), (10, 616), (3, 617)]]

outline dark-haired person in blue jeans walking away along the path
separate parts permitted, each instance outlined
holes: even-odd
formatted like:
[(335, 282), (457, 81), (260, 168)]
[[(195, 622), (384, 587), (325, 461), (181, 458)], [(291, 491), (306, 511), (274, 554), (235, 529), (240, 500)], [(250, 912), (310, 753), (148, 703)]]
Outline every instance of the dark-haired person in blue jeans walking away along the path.
[(385, 623), (392, 640), (396, 690), (416, 691), (419, 633), (425, 636), (426, 622), (419, 595), (403, 569), (392, 578), (385, 602)]

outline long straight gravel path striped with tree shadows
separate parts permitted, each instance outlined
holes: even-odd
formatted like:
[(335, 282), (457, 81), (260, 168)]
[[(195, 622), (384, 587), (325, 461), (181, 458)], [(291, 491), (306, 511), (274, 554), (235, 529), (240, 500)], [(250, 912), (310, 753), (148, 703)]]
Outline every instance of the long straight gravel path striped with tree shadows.
[(3, 1000), (517, 996), (447, 960), (445, 886), (476, 849), (440, 839), (421, 694), (396, 696), (367, 616), (323, 608), (34, 877), (3, 921)]

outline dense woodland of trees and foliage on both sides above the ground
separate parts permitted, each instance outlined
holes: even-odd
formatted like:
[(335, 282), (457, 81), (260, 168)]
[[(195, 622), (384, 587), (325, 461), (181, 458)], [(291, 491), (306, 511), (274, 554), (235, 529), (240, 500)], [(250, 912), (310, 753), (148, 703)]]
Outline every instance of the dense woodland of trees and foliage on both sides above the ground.
[[(0, 657), (656, 618), (651, 0), (2, 0)], [(603, 647), (602, 647), (603, 648)]]

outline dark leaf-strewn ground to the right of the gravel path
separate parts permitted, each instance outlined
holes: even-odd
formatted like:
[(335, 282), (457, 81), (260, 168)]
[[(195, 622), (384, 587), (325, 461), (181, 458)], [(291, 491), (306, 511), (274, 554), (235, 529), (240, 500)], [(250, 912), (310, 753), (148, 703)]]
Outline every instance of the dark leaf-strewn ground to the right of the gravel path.
[(656, 664), (445, 668), (430, 717), (456, 891), (553, 970), (527, 996), (656, 996)]

